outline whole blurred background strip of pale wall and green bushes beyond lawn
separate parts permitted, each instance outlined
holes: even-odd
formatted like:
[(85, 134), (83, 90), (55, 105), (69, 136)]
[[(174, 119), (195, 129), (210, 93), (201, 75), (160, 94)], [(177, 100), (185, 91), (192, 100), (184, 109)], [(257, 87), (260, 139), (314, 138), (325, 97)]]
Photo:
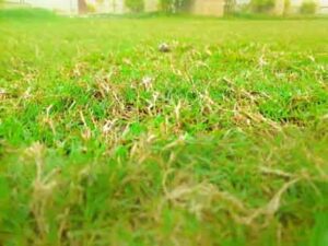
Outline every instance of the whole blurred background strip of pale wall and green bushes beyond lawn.
[(197, 15), (327, 15), (328, 0), (0, 0), (5, 9), (42, 8), (62, 14), (141, 12)]

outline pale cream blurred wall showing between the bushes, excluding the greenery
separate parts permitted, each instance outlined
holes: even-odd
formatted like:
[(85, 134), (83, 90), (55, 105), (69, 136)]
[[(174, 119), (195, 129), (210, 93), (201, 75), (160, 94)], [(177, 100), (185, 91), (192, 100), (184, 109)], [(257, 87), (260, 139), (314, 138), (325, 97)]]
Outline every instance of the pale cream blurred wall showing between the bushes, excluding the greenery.
[[(125, 0), (2, 0), (7, 7), (32, 7), (56, 11), (65, 14), (84, 13), (115, 13), (124, 14), (130, 12), (125, 5)], [(161, 0), (143, 0), (144, 12), (159, 11)], [(200, 15), (224, 14), (224, 4), (227, 0), (194, 0), (191, 12)], [(235, 0), (237, 5), (246, 5), (251, 0)], [(317, 13), (328, 14), (328, 0), (290, 0), (291, 13), (297, 13), (303, 2), (317, 2)], [(284, 4), (284, 0), (276, 0), (276, 5)], [(283, 8), (283, 7), (282, 7)], [(278, 14), (279, 15), (279, 14)]]

